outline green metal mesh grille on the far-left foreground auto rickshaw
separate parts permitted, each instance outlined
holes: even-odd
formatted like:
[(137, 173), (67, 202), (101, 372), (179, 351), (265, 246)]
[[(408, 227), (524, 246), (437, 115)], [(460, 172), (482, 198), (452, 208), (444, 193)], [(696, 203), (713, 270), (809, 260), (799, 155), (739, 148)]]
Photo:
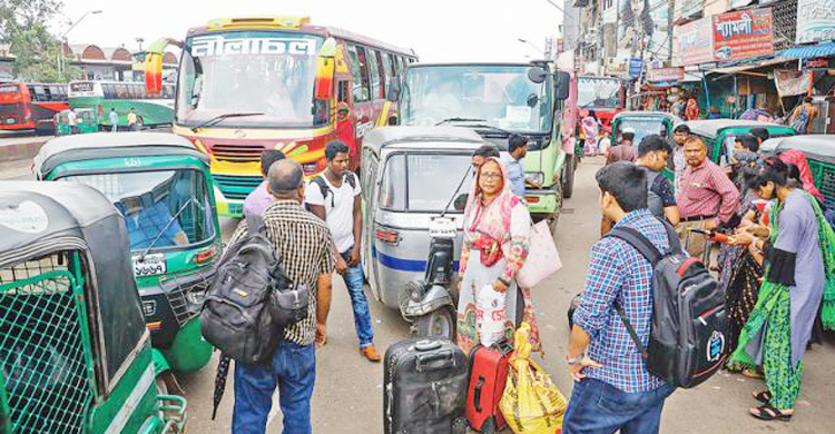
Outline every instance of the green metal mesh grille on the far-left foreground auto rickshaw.
[(59, 253), (0, 268), (0, 401), (13, 433), (81, 433), (92, 403), (84, 283)]

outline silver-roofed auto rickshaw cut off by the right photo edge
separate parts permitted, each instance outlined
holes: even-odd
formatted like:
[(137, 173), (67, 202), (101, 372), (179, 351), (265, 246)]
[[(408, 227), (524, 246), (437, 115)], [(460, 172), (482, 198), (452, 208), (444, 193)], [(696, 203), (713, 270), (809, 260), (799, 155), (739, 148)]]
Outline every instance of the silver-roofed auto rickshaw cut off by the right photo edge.
[(765, 155), (779, 155), (789, 149), (797, 149), (806, 156), (815, 187), (824, 195), (826, 207), (835, 208), (835, 136), (778, 137), (766, 140), (759, 148)]

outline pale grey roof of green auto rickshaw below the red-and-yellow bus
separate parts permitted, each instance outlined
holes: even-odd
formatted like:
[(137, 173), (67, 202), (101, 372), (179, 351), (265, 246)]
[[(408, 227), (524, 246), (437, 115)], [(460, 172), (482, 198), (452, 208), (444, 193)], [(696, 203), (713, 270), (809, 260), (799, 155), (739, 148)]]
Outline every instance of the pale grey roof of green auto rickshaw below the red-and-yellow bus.
[(208, 157), (190, 141), (169, 132), (92, 132), (49, 140), (35, 157), (33, 170), (40, 178), (71, 161), (122, 157), (193, 157), (208, 165)]

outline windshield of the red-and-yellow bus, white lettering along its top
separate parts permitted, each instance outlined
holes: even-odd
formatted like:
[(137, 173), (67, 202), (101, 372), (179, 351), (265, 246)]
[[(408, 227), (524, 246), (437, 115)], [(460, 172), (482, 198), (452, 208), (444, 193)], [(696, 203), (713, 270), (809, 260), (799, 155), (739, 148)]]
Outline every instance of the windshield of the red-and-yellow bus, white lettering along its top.
[[(229, 31), (186, 40), (177, 87), (178, 125), (217, 116), (220, 127), (311, 127), (327, 124), (314, 100), (316, 56), (323, 38), (276, 31)], [(256, 115), (257, 114), (257, 115)]]

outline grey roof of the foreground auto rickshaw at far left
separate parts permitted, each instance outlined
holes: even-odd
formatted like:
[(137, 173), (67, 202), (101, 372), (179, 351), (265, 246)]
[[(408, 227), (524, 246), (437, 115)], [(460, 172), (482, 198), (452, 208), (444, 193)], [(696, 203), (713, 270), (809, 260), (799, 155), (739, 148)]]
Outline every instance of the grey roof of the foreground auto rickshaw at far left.
[[(0, 189), (0, 264), (6, 254), (39, 240), (61, 235), (82, 236), (86, 228), (121, 214), (99, 190), (77, 183), (6, 181)], [(127, 251), (112, 235), (102, 241), (116, 246), (90, 246), (102, 251)]]

